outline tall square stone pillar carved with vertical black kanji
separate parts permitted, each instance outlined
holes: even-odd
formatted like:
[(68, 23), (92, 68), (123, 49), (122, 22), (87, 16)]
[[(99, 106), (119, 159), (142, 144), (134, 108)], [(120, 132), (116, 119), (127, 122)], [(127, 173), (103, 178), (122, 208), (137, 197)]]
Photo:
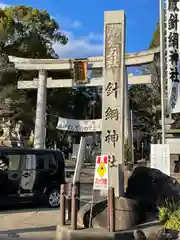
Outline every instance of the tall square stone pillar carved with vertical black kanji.
[(111, 156), (109, 186), (114, 187), (115, 196), (120, 197), (124, 194), (124, 11), (105, 12), (104, 42), (101, 153)]

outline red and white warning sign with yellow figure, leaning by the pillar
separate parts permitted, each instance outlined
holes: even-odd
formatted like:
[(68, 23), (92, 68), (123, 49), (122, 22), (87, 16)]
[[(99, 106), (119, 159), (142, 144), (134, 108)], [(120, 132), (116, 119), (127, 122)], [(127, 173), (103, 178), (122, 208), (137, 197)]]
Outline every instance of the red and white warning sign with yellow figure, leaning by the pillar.
[(96, 167), (94, 174), (95, 190), (108, 190), (108, 176), (109, 176), (109, 156), (102, 155), (96, 157)]

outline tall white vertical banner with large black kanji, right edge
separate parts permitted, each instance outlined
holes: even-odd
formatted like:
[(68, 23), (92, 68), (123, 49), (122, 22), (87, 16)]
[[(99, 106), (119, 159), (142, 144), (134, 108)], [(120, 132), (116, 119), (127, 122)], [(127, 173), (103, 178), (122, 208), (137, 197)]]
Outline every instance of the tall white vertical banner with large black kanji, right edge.
[(167, 69), (167, 111), (180, 112), (179, 41), (180, 41), (179, 0), (166, 1), (166, 69)]

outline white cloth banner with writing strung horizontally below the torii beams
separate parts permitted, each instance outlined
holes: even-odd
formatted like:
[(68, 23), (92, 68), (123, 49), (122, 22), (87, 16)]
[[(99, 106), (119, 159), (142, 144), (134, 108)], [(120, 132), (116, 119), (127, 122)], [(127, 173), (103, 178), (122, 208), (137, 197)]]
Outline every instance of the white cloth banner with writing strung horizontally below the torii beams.
[(56, 129), (69, 132), (101, 132), (102, 119), (78, 120), (59, 117)]

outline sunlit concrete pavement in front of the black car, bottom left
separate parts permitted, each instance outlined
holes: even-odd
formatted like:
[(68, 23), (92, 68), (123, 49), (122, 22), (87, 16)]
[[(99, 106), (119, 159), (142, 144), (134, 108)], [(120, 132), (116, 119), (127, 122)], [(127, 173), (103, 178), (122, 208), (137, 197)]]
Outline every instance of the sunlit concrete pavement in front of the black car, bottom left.
[[(0, 234), (20, 237), (55, 237), (59, 209), (23, 209), (0, 213)], [(46, 238), (45, 238), (46, 239)]]

